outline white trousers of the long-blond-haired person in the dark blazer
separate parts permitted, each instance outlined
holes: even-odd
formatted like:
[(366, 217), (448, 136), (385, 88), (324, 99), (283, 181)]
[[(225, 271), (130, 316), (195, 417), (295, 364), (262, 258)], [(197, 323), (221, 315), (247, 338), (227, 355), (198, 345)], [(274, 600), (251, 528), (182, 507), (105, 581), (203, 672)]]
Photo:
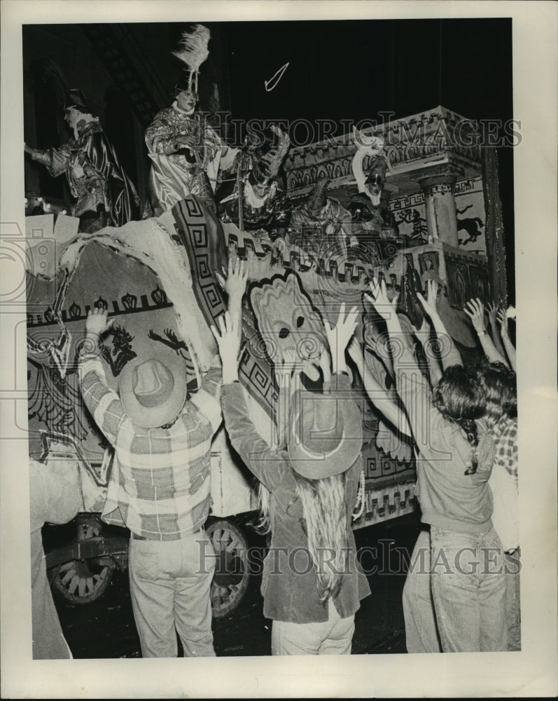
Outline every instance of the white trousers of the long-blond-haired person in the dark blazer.
[(271, 631), (272, 655), (350, 655), (354, 615), (340, 618), (335, 604), (328, 601), (328, 620), (319, 623), (291, 623), (274, 620)]

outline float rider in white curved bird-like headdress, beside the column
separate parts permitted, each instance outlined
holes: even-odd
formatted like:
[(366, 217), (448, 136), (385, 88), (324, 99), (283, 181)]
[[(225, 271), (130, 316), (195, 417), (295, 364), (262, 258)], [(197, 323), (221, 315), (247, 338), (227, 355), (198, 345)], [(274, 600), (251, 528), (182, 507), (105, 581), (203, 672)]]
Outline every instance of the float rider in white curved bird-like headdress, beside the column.
[[(395, 238), (398, 236), (399, 227), (389, 209), (389, 193), (384, 190), (387, 161), (382, 153), (383, 139), (365, 137), (355, 131), (354, 140), (356, 153), (351, 167), (358, 194), (351, 199), (348, 207), (354, 222), (354, 238), (351, 244), (368, 249), (370, 238)], [(367, 174), (363, 169), (365, 156), (370, 157)]]

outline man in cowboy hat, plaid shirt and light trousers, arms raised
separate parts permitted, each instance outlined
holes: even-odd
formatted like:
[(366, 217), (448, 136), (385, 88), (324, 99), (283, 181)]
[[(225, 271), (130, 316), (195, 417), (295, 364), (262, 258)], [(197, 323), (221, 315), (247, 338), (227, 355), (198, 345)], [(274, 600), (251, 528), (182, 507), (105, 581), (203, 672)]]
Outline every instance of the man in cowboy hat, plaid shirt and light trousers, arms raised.
[[(225, 283), (237, 308), (242, 266)], [(176, 657), (176, 633), (186, 656), (213, 656), (209, 590), (215, 561), (204, 523), (211, 504), (210, 449), (221, 424), (221, 363), (187, 401), (181, 356), (139, 355), (109, 388), (99, 337), (110, 326), (105, 311), (85, 322), (89, 352), (79, 376), (83, 400), (114, 447), (105, 522), (130, 529), (130, 594), (144, 657)]]

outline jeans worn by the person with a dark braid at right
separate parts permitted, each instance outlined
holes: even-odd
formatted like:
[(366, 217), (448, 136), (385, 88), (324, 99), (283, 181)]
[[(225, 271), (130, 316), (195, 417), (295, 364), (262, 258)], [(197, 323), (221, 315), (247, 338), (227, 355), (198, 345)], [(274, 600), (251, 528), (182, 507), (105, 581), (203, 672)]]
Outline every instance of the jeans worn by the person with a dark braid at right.
[(444, 652), (507, 649), (500, 538), (431, 526), (432, 596)]

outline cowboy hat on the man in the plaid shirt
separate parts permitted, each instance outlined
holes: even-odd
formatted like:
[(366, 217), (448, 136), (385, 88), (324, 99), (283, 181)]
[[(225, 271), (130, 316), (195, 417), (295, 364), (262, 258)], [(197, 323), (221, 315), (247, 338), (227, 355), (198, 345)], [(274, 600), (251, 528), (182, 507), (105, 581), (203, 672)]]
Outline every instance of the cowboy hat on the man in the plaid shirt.
[(138, 355), (123, 369), (118, 389), (124, 411), (137, 426), (165, 426), (186, 402), (186, 363), (168, 351)]

